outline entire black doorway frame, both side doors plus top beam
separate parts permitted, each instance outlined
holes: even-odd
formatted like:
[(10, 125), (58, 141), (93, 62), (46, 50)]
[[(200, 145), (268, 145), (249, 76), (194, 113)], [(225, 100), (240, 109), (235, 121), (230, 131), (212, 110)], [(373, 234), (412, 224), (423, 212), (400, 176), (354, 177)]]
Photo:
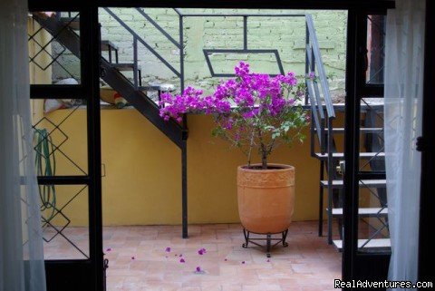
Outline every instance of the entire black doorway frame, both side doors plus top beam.
[[(430, 2), (430, 1), (428, 1)], [(89, 214), (90, 214), (90, 254), (89, 260), (64, 260), (64, 261), (47, 261), (47, 280), (49, 284), (55, 283), (57, 286), (62, 286), (63, 290), (76, 290), (77, 287), (73, 282), (77, 282), (77, 278), (81, 278), (81, 286), (89, 286), (89, 290), (102, 290), (103, 286), (103, 253), (102, 253), (102, 180), (101, 180), (101, 129), (100, 129), (100, 100), (99, 96), (99, 77), (100, 77), (100, 47), (99, 47), (99, 26), (98, 26), (98, 7), (114, 6), (114, 7), (196, 7), (196, 8), (281, 8), (281, 9), (340, 9), (348, 11), (348, 39), (347, 39), (347, 61), (346, 61), (346, 144), (345, 144), (345, 161), (346, 173), (344, 178), (344, 187), (346, 193), (353, 195), (345, 195), (343, 214), (344, 223), (347, 228), (344, 228), (344, 243), (343, 243), (343, 279), (350, 280), (358, 278), (363, 267), (370, 264), (383, 264), (385, 267), (385, 256), (367, 256), (357, 254), (356, 239), (357, 239), (357, 197), (358, 177), (355, 176), (358, 167), (358, 157), (355, 153), (358, 152), (358, 137), (359, 137), (359, 115), (360, 103), (358, 93), (362, 91), (358, 87), (358, 45), (360, 41), (358, 37), (361, 34), (356, 34), (362, 25), (362, 12), (368, 13), (370, 9), (376, 7), (376, 11), (385, 11), (387, 8), (392, 8), (393, 1), (390, 0), (305, 0), (305, 1), (216, 1), (216, 2), (186, 2), (175, 0), (91, 0), (87, 5), (80, 3), (69, 2), (53, 2), (53, 0), (29, 0), (29, 9), (31, 11), (80, 11), (82, 27), (82, 85), (70, 89), (63, 89), (55, 86), (31, 86), (31, 98), (45, 98), (51, 96), (53, 98), (71, 98), (72, 92), (75, 96), (86, 96), (88, 100), (87, 121), (88, 121), (88, 163), (89, 172), (83, 177), (56, 177), (53, 179), (40, 178), (41, 184), (86, 184), (89, 187)], [(433, 6), (433, 5), (432, 5)], [(432, 7), (433, 9), (433, 7)], [(371, 12), (372, 13), (372, 12)], [(429, 18), (429, 17), (428, 17)], [(429, 25), (429, 24), (428, 24)], [(430, 27), (433, 30), (433, 20), (430, 22)], [(86, 29), (84, 29), (86, 27)], [(427, 31), (427, 39), (429, 32)], [(84, 43), (84, 44), (83, 44)], [(85, 45), (86, 44), (86, 45)], [(429, 46), (428, 46), (429, 47)], [(433, 45), (431, 46), (433, 48)], [(429, 54), (429, 53), (428, 53)], [(431, 56), (433, 63), (433, 56)], [(86, 63), (87, 70), (84, 70)], [(428, 66), (433, 68), (434, 66)], [(83, 72), (85, 71), (85, 72)], [(433, 78), (433, 73), (428, 69), (425, 72), (426, 76)], [(430, 78), (430, 77), (427, 77)], [(433, 95), (433, 88), (427, 86), (425, 91), (425, 101), (429, 100), (430, 94)], [(425, 102), (425, 106), (433, 108), (433, 100)], [(430, 103), (431, 102), (431, 103)], [(426, 113), (428, 117), (429, 114)], [(432, 117), (433, 119), (433, 117)], [(429, 117), (424, 120), (427, 124)], [(433, 123), (431, 123), (433, 124)], [(427, 131), (427, 130), (426, 130)], [(425, 132), (425, 131), (423, 131)], [(433, 133), (432, 140), (433, 144)], [(429, 153), (427, 153), (429, 154)], [(426, 167), (433, 167), (432, 163)], [(430, 168), (433, 170), (433, 168)], [(425, 180), (426, 182), (428, 179)], [(423, 185), (426, 185), (422, 183)], [(426, 191), (429, 191), (426, 186)], [(429, 195), (428, 195), (429, 196)], [(426, 198), (428, 199), (428, 198)], [(430, 198), (429, 199), (433, 199)], [(429, 204), (426, 204), (428, 207)], [(422, 208), (423, 209), (423, 208)], [(427, 210), (427, 209), (426, 209)], [(429, 218), (422, 211), (424, 218)], [(423, 218), (423, 219), (424, 219)], [(423, 220), (422, 220), (423, 221)], [(429, 224), (427, 224), (429, 227)], [(421, 228), (426, 228), (426, 225), (420, 224)], [(346, 230), (347, 229), (347, 230)], [(429, 231), (420, 231), (429, 234)], [(429, 240), (427, 240), (429, 241)], [(420, 241), (423, 244), (422, 241)], [(424, 253), (430, 250), (430, 247), (422, 245), (421, 251)], [(388, 265), (387, 265), (388, 266)], [(67, 274), (69, 278), (63, 276)], [(421, 273), (423, 274), (423, 273)], [(370, 274), (369, 274), (370, 276)], [(61, 285), (59, 285), (61, 284)], [(53, 290), (55, 288), (53, 287)], [(84, 290), (81, 288), (81, 290)], [(88, 288), (86, 288), (88, 290)]]

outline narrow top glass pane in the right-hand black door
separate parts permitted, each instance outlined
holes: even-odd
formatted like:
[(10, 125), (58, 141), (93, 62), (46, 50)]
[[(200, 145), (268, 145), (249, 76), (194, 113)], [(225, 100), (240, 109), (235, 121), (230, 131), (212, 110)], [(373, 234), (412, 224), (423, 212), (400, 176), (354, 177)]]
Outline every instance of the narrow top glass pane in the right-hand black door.
[(385, 66), (385, 15), (367, 17), (367, 71), (368, 84), (383, 84)]

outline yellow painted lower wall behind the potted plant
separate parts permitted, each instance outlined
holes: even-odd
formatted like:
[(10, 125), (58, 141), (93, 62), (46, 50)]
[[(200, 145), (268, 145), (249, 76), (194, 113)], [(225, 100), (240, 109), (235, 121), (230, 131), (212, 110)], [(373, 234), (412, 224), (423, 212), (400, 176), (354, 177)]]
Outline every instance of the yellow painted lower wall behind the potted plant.
[[(71, 110), (45, 115), (61, 121)], [(86, 112), (79, 109), (61, 125), (69, 135), (62, 150), (86, 169)], [(188, 190), (189, 223), (237, 222), (237, 165), (246, 162), (237, 149), (211, 137), (209, 116), (189, 116)], [(308, 129), (306, 130), (308, 134)], [(57, 139), (61, 139), (57, 135)], [(57, 154), (57, 174), (79, 174), (71, 162)], [(102, 110), (103, 223), (115, 225), (179, 224), (181, 222), (181, 152), (134, 109)], [(309, 139), (292, 149), (278, 148), (271, 162), (296, 168), (294, 220), (317, 218), (319, 162), (310, 157)], [(58, 189), (62, 205), (73, 195)], [(84, 193), (86, 195), (86, 193)], [(86, 199), (72, 203), (66, 214), (72, 226), (87, 224)]]

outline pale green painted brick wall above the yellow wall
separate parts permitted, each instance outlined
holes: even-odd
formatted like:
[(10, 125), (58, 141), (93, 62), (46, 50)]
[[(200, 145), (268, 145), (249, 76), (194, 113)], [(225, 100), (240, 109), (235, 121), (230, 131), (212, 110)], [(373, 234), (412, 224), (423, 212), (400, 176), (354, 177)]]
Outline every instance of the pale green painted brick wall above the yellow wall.
[[(171, 65), (179, 70), (179, 49), (163, 34), (132, 8), (111, 8), (115, 15), (128, 24), (152, 48), (160, 53)], [(170, 8), (147, 8), (145, 12), (177, 41), (179, 40), (179, 16)], [(182, 9), (183, 13), (250, 13), (250, 14), (304, 14), (314, 18), (326, 73), (331, 77), (330, 87), (336, 101), (344, 95), (346, 12), (343, 11), (288, 11), (288, 10), (243, 10), (243, 9)], [(131, 34), (103, 9), (100, 12), (102, 39), (111, 40), (120, 47), (120, 62), (132, 62), (133, 48)], [(202, 50), (204, 48), (243, 48), (242, 17), (186, 17), (184, 19), (185, 84), (210, 92), (219, 82), (212, 78)], [(247, 22), (247, 45), (251, 49), (277, 49), (285, 73), (304, 75), (303, 17), (249, 17)], [(142, 44), (139, 44), (139, 60), (142, 67), (142, 82), (155, 84), (171, 82), (179, 85), (179, 79)], [(227, 53), (210, 57), (215, 72), (231, 73), (239, 61), (247, 61), (253, 71), (278, 73), (273, 54)], [(60, 60), (72, 72), (77, 62), (68, 54)], [(128, 75), (132, 77), (132, 75)], [(63, 70), (53, 70), (53, 78), (66, 77)]]

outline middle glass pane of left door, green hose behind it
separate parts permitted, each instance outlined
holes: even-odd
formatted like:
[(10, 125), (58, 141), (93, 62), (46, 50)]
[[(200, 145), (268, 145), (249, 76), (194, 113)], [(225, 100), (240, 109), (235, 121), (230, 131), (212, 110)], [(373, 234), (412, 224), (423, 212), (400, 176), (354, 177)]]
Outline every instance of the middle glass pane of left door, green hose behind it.
[(86, 175), (86, 105), (82, 100), (31, 100), (39, 176)]

